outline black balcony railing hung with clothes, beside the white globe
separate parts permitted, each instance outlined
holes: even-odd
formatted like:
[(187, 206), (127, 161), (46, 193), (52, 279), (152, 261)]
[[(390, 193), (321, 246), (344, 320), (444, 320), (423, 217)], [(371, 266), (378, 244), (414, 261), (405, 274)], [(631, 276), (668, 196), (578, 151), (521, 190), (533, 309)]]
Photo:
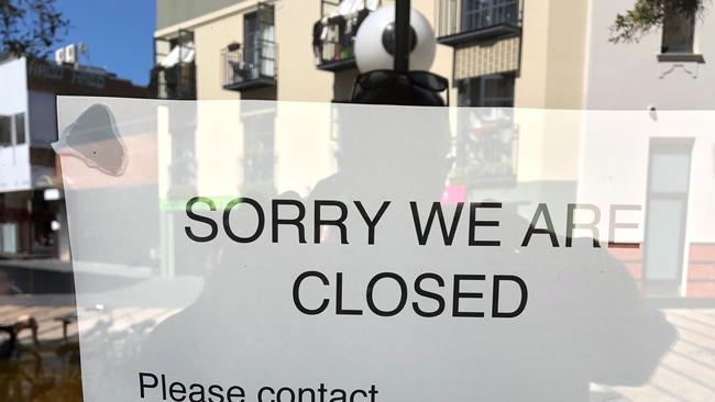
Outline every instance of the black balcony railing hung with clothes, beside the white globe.
[(316, 22), (312, 33), (316, 65), (331, 71), (355, 67), (355, 35), (371, 10), (363, 8), (351, 14), (340, 14), (338, 0), (321, 0), (320, 10), (321, 19)]

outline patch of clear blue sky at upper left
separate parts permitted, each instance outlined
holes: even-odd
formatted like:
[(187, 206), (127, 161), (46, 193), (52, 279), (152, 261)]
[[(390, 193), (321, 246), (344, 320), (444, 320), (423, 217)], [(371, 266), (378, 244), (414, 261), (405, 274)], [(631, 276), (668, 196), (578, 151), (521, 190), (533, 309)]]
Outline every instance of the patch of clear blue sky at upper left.
[(56, 7), (70, 24), (59, 44), (85, 42), (89, 55), (80, 62), (146, 85), (152, 67), (155, 0), (56, 0)]

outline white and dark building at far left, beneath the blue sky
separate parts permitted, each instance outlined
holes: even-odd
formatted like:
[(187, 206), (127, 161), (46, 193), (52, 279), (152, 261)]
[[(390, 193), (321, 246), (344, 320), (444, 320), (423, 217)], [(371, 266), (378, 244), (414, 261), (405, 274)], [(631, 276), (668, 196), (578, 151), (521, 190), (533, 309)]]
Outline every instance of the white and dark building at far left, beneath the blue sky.
[(77, 63), (79, 51), (61, 51), (67, 48), (73, 59), (57, 63), (0, 57), (0, 255), (7, 258), (69, 260), (62, 174), (50, 146), (57, 141), (56, 97), (147, 97), (143, 87)]

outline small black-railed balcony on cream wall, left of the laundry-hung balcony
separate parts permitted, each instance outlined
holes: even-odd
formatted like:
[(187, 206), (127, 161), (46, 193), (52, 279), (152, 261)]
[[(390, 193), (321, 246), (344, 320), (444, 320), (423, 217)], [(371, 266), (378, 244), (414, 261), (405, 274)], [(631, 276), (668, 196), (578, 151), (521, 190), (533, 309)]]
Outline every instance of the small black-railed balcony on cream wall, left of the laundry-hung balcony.
[(249, 46), (231, 44), (221, 52), (223, 88), (242, 90), (275, 86), (277, 44), (255, 40)]

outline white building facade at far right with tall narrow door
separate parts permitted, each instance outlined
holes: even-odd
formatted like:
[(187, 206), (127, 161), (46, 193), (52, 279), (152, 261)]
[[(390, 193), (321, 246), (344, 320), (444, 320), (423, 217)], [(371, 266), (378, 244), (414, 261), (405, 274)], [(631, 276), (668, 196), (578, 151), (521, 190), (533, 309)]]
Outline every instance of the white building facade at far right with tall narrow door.
[(644, 288), (713, 298), (715, 127), (696, 111), (715, 109), (715, 10), (669, 15), (637, 42), (609, 42), (615, 15), (632, 3), (588, 2), (583, 108), (636, 111), (644, 119), (629, 135), (585, 125), (579, 199), (597, 200), (591, 183), (609, 182), (609, 193), (642, 204), (636, 238), (642, 246), (620, 257)]

